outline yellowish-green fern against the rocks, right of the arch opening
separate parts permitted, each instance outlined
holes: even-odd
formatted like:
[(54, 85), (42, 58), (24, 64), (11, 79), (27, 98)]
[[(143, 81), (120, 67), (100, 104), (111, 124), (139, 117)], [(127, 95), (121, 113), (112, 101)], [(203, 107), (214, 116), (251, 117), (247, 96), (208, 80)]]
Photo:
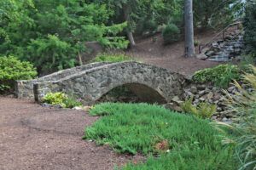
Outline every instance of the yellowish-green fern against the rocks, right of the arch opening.
[(198, 106), (192, 104), (193, 98), (185, 100), (181, 108), (186, 113), (192, 113), (199, 118), (211, 118), (217, 111), (216, 105), (209, 105), (207, 102), (201, 102)]

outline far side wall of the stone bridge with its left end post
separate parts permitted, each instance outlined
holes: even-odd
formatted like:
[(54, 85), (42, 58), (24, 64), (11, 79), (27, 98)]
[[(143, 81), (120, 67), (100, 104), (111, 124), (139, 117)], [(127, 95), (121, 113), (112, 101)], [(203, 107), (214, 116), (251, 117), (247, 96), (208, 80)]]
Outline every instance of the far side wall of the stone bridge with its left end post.
[(71, 69), (57, 71), (53, 74), (50, 74), (45, 77), (39, 77), (38, 79), (33, 80), (20, 80), (16, 82), (15, 85), (15, 94), (18, 98), (25, 98), (25, 99), (34, 99), (33, 93), (33, 85), (37, 82), (49, 82), (49, 81), (57, 81), (61, 78), (73, 75), (79, 71), (86, 71), (88, 69), (100, 66), (100, 65), (108, 65), (107, 62), (105, 63), (92, 63), (89, 65), (82, 65), (78, 67), (74, 67)]

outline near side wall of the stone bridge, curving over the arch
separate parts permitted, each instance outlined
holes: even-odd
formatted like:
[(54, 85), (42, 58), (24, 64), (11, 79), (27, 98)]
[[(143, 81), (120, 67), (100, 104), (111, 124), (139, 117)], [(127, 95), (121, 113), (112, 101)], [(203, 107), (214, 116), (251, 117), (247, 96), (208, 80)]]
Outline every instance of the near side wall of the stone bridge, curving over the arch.
[(185, 78), (176, 72), (155, 65), (137, 62), (122, 62), (102, 65), (55, 82), (40, 82), (35, 85), (35, 96), (40, 99), (49, 92), (62, 91), (94, 104), (103, 94), (124, 84), (140, 84), (170, 102), (175, 95), (183, 93)]

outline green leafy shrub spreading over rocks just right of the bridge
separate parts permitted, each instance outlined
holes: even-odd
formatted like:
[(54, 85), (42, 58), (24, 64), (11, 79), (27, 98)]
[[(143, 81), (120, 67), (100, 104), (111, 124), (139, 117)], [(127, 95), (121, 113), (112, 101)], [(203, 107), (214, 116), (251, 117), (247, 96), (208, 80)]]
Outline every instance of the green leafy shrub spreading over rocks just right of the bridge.
[(213, 68), (207, 68), (196, 71), (192, 77), (195, 82), (213, 82), (220, 88), (227, 88), (233, 80), (241, 78), (240, 69), (236, 65), (218, 65)]

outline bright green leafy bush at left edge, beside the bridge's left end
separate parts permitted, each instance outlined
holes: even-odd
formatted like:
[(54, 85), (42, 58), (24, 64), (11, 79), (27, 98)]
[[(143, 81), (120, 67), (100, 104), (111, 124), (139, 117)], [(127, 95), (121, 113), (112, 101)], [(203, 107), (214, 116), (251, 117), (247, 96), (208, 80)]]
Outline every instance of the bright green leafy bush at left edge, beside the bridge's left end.
[(11, 90), (15, 80), (28, 80), (37, 76), (37, 71), (29, 62), (22, 62), (13, 56), (0, 57), (0, 91)]

